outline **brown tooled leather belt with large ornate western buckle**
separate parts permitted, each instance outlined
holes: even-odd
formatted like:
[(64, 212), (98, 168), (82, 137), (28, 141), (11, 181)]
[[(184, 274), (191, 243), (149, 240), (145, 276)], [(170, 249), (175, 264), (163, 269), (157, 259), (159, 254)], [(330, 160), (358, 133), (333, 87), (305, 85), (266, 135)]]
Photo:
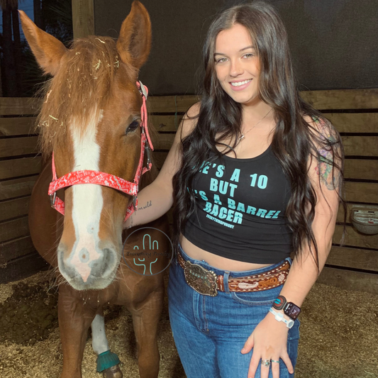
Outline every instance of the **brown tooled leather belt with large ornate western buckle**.
[[(181, 253), (177, 253), (177, 261), (184, 269), (187, 284), (200, 294), (216, 296), (218, 291), (225, 291), (223, 275), (215, 274), (212, 270), (205, 269), (201, 265), (185, 261)], [(261, 274), (245, 277), (229, 277), (228, 289), (230, 291), (250, 292), (273, 289), (284, 284), (289, 274), (290, 263), (285, 260), (281, 265)]]

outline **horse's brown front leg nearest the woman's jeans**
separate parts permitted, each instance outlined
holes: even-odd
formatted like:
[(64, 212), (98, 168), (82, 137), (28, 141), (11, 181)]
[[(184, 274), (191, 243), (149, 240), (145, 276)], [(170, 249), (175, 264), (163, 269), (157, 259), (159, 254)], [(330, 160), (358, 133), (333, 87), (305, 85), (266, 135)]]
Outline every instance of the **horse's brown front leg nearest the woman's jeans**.
[(157, 349), (157, 326), (162, 313), (164, 289), (153, 291), (143, 303), (133, 308), (133, 326), (138, 347), (140, 378), (157, 378), (160, 355)]

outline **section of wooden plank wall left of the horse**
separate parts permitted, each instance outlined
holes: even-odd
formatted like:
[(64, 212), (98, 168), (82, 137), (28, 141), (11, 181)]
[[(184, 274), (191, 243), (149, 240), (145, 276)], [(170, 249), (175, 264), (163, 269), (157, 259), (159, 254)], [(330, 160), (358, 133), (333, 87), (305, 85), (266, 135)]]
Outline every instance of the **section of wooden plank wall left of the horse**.
[(30, 194), (40, 172), (38, 137), (30, 134), (39, 105), (35, 99), (0, 98), (0, 283), (46, 266), (28, 228)]

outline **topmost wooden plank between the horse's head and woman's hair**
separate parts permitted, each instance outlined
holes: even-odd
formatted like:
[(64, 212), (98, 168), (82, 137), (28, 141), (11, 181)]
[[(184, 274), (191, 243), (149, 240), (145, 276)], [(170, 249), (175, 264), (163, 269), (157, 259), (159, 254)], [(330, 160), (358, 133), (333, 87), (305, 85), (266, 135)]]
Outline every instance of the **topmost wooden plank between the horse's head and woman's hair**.
[(151, 113), (185, 112), (199, 101), (199, 96), (151, 96), (148, 97), (148, 111)]

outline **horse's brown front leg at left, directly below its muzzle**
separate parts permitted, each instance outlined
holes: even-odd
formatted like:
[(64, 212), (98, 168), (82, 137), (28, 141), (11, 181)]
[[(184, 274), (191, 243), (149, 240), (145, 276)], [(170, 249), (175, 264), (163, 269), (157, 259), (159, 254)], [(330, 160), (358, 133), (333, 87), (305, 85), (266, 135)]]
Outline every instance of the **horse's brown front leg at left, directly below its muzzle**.
[[(84, 292), (83, 295), (87, 294)], [(63, 370), (60, 378), (82, 378), (82, 359), (88, 328), (96, 315), (96, 310), (86, 306), (85, 301), (72, 287), (67, 284), (60, 285), (58, 319), (63, 352)]]

